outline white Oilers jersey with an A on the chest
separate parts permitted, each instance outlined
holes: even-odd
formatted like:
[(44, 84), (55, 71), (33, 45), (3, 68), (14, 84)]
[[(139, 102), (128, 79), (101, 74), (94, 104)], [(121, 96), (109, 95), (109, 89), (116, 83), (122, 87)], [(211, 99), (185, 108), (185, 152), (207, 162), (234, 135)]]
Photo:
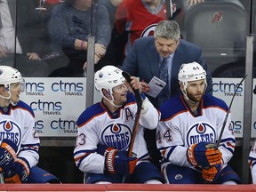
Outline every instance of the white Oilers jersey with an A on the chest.
[[(76, 166), (82, 172), (103, 173), (105, 157), (96, 153), (97, 145), (128, 150), (136, 112), (137, 104), (132, 93), (127, 94), (127, 101), (116, 110), (115, 114), (110, 114), (102, 102), (84, 110), (76, 122), (78, 127), (74, 150)], [(132, 153), (139, 158), (137, 164), (140, 160), (148, 159), (144, 129), (155, 129), (159, 118), (158, 111), (149, 102), (147, 113), (140, 115), (140, 126), (132, 148)]]

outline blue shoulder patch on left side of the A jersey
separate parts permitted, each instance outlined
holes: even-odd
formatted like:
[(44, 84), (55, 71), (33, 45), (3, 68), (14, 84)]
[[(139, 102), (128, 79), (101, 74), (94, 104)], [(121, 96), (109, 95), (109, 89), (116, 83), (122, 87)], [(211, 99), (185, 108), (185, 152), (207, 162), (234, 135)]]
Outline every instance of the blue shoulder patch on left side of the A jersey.
[(102, 107), (100, 102), (98, 102), (84, 110), (84, 112), (78, 117), (76, 125), (81, 126), (82, 124), (92, 120), (95, 116), (99, 116), (105, 112), (107, 112), (106, 109)]

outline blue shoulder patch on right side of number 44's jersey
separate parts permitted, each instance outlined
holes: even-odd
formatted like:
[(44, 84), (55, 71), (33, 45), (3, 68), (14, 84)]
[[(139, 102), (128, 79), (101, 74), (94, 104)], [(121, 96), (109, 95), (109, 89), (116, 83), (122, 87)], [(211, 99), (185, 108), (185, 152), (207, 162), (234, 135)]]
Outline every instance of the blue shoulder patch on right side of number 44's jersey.
[(204, 108), (222, 108), (223, 110), (228, 111), (228, 105), (224, 100), (213, 96), (212, 94), (204, 95)]

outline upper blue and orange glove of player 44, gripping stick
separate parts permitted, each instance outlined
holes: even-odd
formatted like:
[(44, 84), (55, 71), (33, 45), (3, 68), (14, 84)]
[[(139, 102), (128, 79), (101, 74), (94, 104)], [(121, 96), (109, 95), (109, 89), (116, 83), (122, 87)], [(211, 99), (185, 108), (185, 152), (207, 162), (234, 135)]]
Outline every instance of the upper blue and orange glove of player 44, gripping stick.
[(200, 142), (188, 148), (187, 158), (188, 162), (193, 166), (207, 168), (215, 164), (220, 164), (222, 154), (219, 149), (214, 148), (214, 144)]

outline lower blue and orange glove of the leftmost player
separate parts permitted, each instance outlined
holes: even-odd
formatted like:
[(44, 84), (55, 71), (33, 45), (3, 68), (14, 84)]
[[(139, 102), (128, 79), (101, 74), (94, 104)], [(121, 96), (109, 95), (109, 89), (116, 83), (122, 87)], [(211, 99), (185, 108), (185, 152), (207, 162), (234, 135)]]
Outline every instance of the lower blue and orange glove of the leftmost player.
[[(17, 158), (12, 170), (4, 172), (5, 183), (27, 183), (30, 167), (24, 158)], [(7, 174), (7, 175), (6, 175)]]

